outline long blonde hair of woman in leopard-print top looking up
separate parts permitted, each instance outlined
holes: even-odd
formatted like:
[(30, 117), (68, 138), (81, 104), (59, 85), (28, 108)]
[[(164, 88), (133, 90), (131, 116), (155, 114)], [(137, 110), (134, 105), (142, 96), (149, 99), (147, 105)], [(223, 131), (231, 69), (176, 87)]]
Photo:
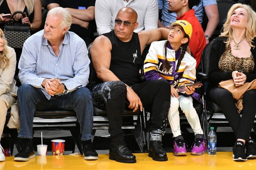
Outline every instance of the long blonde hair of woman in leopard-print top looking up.
[[(246, 26), (246, 31), (245, 31), (245, 38), (249, 41), (249, 44), (251, 47), (255, 47), (254, 44), (252, 44), (252, 40), (256, 36), (256, 13), (253, 11), (253, 9), (249, 5), (245, 4), (234, 4), (231, 6), (227, 13), (227, 20), (225, 24), (223, 25), (223, 32), (221, 32), (220, 36), (227, 36), (227, 37), (232, 37), (233, 36), (233, 30), (230, 27), (230, 18), (232, 16), (232, 13), (237, 9), (237, 8), (243, 8), (247, 11), (248, 13), (248, 25)], [(232, 38), (228, 38), (227, 41), (224, 41), (227, 43), (227, 45), (230, 44)]]

